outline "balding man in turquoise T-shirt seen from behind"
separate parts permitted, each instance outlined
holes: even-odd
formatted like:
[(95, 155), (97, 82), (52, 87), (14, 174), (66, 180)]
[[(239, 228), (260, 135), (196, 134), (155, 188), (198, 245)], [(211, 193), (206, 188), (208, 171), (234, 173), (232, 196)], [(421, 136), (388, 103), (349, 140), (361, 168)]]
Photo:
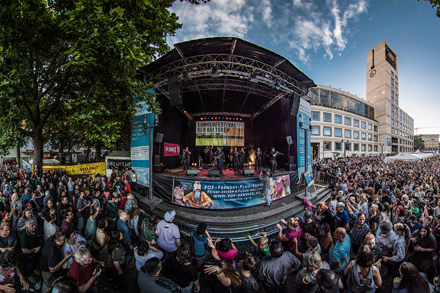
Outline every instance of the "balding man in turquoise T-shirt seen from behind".
[(334, 231), (336, 244), (329, 251), (329, 263), (333, 272), (341, 274), (350, 262), (350, 236), (344, 228), (338, 228)]

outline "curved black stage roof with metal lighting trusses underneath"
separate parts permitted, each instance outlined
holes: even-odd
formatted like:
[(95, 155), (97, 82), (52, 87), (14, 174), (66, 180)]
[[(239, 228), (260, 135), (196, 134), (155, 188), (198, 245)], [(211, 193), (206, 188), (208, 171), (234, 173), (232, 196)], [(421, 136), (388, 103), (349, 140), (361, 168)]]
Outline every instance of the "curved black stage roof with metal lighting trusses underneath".
[[(211, 76), (214, 63), (219, 77)], [(257, 75), (254, 79), (252, 70)], [(176, 43), (174, 49), (139, 71), (145, 82), (152, 82), (156, 92), (168, 98), (168, 79), (180, 76), (183, 104), (177, 107), (190, 116), (256, 117), (282, 98), (313, 99), (308, 88), (316, 86), (283, 56), (232, 37)]]

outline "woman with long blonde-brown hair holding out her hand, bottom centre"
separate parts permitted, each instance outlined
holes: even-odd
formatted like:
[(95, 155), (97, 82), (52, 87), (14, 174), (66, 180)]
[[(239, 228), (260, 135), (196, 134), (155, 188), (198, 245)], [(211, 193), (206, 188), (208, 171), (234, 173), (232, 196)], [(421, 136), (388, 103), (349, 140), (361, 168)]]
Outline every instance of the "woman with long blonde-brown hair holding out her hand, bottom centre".
[(203, 271), (216, 275), (216, 278), (211, 279), (212, 293), (229, 293), (231, 287), (237, 288), (242, 284), (240, 273), (227, 261), (220, 260), (216, 265), (205, 266)]

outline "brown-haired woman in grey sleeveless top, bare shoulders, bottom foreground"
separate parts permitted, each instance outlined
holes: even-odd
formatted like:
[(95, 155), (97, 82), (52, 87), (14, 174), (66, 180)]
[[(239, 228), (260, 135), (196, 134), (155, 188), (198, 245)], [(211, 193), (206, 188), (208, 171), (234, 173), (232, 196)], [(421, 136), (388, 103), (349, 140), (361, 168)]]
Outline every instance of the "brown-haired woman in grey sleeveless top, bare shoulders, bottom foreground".
[(370, 246), (359, 248), (356, 260), (352, 260), (344, 270), (348, 275), (347, 286), (350, 293), (374, 293), (382, 286), (379, 269), (374, 266), (374, 254)]

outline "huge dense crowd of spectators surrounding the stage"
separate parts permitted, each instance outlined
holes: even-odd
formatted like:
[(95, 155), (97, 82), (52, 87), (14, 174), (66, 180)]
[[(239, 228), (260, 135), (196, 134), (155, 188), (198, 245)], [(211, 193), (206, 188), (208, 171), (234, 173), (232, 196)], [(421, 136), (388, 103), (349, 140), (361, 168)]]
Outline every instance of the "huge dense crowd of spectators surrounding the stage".
[(44, 293), (99, 292), (100, 275), (124, 291), (135, 286), (126, 284), (131, 272), (142, 293), (287, 293), (291, 284), (301, 293), (367, 293), (387, 277), (393, 293), (435, 290), (439, 157), (314, 160), (312, 168), (317, 179), (332, 178), (330, 198), (305, 200), (304, 215), (282, 219), (270, 235), (248, 235), (256, 253), (242, 254), (232, 239), (212, 239), (205, 223), (180, 231), (174, 210), (163, 220), (142, 217), (134, 173), (73, 180), (62, 169), (39, 176), (4, 163), (0, 292), (15, 292), (19, 282), (37, 289), (39, 275)]

